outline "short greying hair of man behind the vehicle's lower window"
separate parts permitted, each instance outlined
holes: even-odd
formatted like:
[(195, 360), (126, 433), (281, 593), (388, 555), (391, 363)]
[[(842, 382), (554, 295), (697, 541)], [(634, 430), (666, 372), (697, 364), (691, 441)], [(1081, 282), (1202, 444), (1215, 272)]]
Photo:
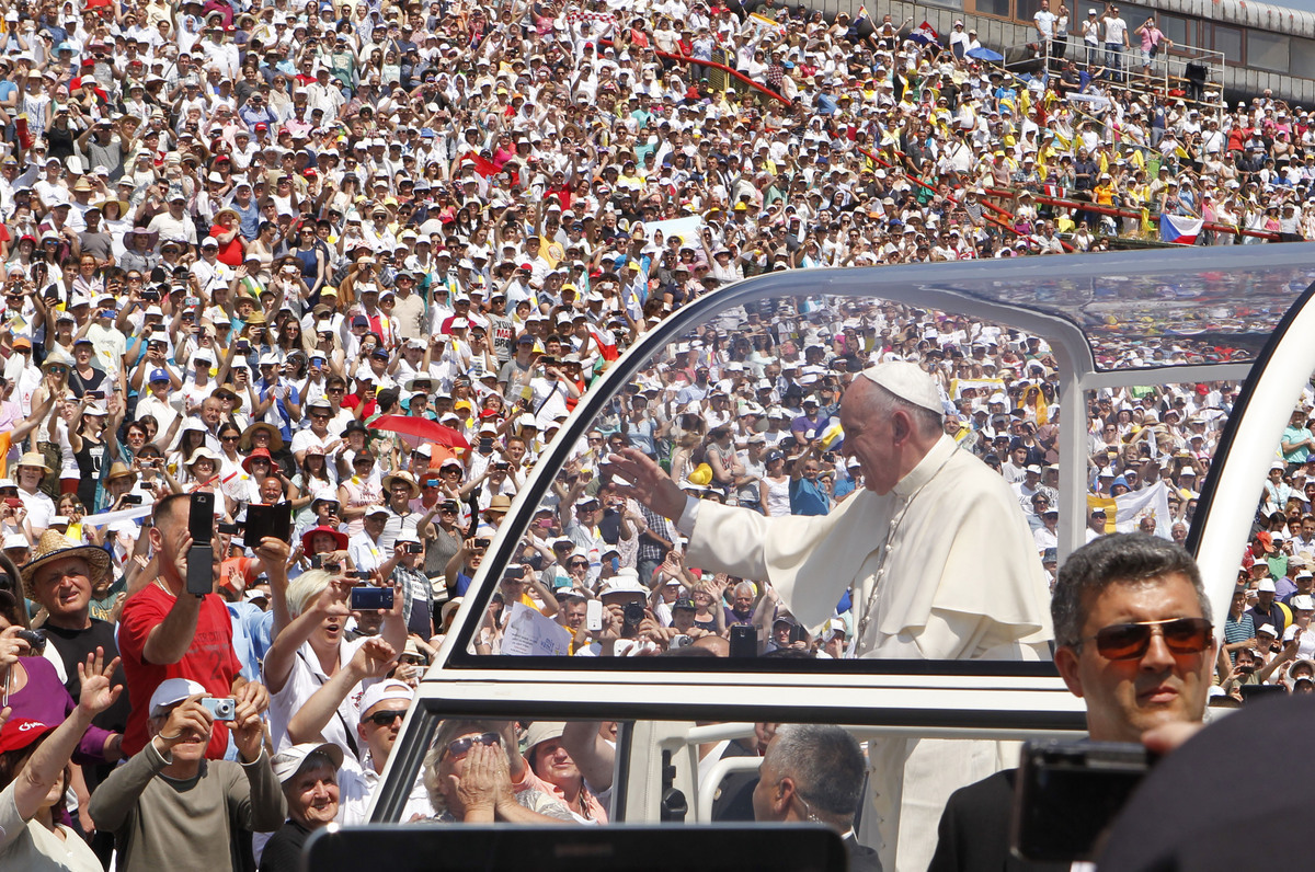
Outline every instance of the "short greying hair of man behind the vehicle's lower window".
[(776, 730), (772, 756), (800, 796), (828, 817), (852, 818), (863, 797), (867, 762), (859, 740), (826, 723), (786, 723)]

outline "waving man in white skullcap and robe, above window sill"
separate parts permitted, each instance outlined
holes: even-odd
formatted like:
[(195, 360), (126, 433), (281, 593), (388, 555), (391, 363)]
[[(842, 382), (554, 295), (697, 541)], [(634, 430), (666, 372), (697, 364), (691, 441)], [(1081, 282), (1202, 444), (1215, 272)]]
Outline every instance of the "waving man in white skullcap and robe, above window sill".
[(611, 456), (639, 502), (689, 537), (685, 563), (771, 581), (803, 625), (848, 588), (863, 658), (1044, 660), (1049, 589), (1005, 480), (944, 434), (917, 364), (861, 372), (840, 401), (842, 454), (864, 489), (817, 517), (768, 518), (685, 496), (648, 456)]

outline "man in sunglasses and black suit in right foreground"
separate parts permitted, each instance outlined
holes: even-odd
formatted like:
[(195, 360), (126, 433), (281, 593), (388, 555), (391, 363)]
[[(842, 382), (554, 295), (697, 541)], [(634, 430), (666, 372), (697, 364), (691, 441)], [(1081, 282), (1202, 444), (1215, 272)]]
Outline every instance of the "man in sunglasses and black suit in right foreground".
[[(1051, 600), (1055, 666), (1086, 702), (1097, 742), (1157, 744), (1160, 727), (1199, 722), (1215, 639), (1191, 555), (1144, 533), (1101, 537), (1074, 551)], [(956, 790), (940, 818), (928, 872), (1041, 872), (1010, 854), (1009, 769)]]

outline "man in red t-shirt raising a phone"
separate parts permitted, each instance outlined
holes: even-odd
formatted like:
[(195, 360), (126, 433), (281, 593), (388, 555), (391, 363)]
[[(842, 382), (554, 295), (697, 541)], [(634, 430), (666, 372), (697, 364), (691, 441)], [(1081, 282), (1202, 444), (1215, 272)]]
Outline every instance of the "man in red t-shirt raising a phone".
[[(146, 746), (151, 693), (166, 679), (191, 679), (210, 696), (231, 696), (239, 704), (250, 702), (258, 712), (270, 705), (264, 685), (239, 675), (242, 664), (233, 650), (233, 621), (224, 600), (214, 593), (195, 596), (187, 592), (185, 567), (192, 547), (188, 509), (189, 497), (183, 493), (155, 504), (147, 535), (159, 576), (128, 598), (120, 617), (118, 652), (132, 702), (124, 731), (125, 756)], [(218, 537), (214, 542), (218, 545)], [(287, 584), (287, 547), (267, 538), (256, 550), (271, 584)], [(218, 566), (216, 559), (216, 577)], [(216, 723), (205, 756), (222, 759), (227, 744), (227, 727)]]

